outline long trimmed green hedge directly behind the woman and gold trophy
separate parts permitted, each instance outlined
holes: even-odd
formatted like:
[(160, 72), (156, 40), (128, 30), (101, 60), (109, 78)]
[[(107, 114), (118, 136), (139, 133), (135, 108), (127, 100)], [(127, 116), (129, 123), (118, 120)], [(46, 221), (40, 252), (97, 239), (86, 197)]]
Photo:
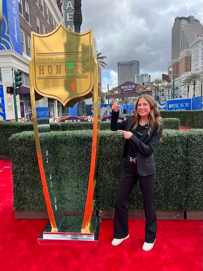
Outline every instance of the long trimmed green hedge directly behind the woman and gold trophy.
[[(202, 210), (203, 130), (164, 129), (164, 132), (163, 142), (155, 150), (157, 210)], [(54, 184), (51, 197), (57, 195), (57, 211), (83, 210), (89, 180), (92, 130), (51, 131), (42, 133), (40, 140), (43, 157), (46, 150), (49, 150), (49, 172)], [(97, 210), (114, 209), (122, 167), (122, 140), (123, 137), (118, 132), (100, 132), (95, 188)], [(9, 149), (13, 170), (14, 209), (46, 210), (34, 132), (13, 134), (9, 139)], [(46, 163), (45, 167), (47, 168)], [(48, 175), (47, 180), (49, 179)], [(138, 184), (132, 191), (129, 208), (143, 209)]]

